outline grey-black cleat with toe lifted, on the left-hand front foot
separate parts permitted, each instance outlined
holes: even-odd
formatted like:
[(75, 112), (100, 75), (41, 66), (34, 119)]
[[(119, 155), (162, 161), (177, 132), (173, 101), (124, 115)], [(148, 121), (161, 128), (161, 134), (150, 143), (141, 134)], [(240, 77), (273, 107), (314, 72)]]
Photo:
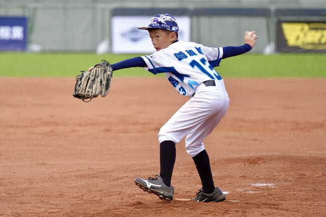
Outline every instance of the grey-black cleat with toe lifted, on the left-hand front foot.
[(135, 178), (133, 181), (143, 191), (156, 194), (160, 199), (173, 200), (174, 186), (168, 187), (159, 175), (155, 175), (155, 178), (149, 177), (148, 179)]

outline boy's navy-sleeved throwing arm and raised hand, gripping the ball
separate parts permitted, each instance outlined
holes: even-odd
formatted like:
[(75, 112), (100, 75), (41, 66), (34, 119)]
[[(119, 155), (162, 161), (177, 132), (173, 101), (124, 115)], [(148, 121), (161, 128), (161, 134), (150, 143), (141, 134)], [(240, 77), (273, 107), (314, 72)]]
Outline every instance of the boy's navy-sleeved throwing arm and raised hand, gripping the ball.
[(248, 51), (250, 51), (256, 44), (256, 39), (258, 37), (255, 34), (255, 31), (249, 32), (247, 31), (245, 33), (245, 41), (244, 45), (238, 46), (238, 47), (223, 47), (223, 57), (222, 59), (228, 58), (228, 57), (234, 57), (240, 54), (244, 54)]

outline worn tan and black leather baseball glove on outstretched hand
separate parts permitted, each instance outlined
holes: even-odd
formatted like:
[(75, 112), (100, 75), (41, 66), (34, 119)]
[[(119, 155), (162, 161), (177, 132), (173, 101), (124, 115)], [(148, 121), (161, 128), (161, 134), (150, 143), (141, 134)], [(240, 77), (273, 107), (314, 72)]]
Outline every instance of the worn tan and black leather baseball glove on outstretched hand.
[(89, 102), (100, 94), (101, 97), (107, 95), (112, 80), (112, 67), (107, 61), (102, 60), (102, 63), (96, 64), (90, 71), (81, 72), (76, 77), (74, 97)]

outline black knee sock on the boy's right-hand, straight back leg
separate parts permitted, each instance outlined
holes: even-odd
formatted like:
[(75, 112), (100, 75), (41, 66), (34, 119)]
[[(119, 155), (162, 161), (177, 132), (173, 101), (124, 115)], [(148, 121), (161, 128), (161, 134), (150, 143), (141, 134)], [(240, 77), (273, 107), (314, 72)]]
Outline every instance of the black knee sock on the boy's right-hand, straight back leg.
[(205, 193), (213, 193), (215, 186), (210, 166), (210, 158), (208, 157), (206, 150), (203, 150), (194, 156), (193, 160), (196, 164), (198, 174), (202, 181), (203, 191)]

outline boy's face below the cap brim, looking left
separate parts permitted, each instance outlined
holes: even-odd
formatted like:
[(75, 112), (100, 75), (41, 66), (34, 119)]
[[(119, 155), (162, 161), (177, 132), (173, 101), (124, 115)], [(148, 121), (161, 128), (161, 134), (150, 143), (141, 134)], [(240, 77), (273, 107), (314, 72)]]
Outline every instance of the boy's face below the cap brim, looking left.
[(167, 34), (160, 29), (149, 31), (151, 43), (156, 51), (169, 47), (176, 40), (174, 35), (173, 32)]

